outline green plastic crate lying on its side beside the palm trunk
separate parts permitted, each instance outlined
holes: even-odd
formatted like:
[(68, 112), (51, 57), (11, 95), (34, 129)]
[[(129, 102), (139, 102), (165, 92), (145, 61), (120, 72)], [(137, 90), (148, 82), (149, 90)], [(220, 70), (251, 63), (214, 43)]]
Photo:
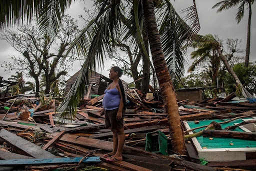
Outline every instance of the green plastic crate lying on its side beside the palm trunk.
[(146, 151), (168, 155), (167, 137), (160, 130), (146, 133)]

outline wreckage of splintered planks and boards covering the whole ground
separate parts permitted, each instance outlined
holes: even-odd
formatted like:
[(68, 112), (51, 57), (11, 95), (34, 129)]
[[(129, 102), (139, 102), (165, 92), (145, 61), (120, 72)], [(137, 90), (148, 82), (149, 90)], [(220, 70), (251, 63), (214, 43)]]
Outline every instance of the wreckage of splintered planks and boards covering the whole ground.
[[(256, 129), (254, 99), (241, 100), (232, 93), (197, 103), (178, 101), (187, 155), (177, 155), (170, 145), (159, 93), (128, 89), (123, 160), (109, 162), (103, 154), (112, 151), (112, 132), (105, 129), (104, 115), (100, 115), (103, 95), (91, 97), (84, 96), (72, 120), (55, 115), (56, 99), (1, 98), (0, 169), (252, 170), (256, 166), (256, 144), (251, 142), (256, 137), (252, 131)], [(208, 128), (213, 121), (218, 123), (215, 130)], [(231, 127), (222, 129), (224, 124)], [(233, 131), (241, 127), (245, 131)], [(223, 147), (218, 138), (232, 140), (226, 140), (229, 146)], [(249, 145), (236, 149), (240, 142), (234, 138), (250, 141)]]

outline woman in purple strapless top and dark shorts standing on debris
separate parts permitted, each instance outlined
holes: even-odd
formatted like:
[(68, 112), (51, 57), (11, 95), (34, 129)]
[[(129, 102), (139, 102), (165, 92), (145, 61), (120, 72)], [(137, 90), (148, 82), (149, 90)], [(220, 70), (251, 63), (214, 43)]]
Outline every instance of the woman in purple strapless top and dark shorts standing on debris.
[(122, 81), (119, 77), (122, 71), (118, 66), (113, 66), (109, 72), (109, 78), (113, 81), (105, 89), (103, 107), (106, 127), (113, 132), (113, 150), (103, 156), (108, 161), (122, 160), (122, 148), (125, 141), (123, 129), (123, 117), (125, 112), (125, 95)]

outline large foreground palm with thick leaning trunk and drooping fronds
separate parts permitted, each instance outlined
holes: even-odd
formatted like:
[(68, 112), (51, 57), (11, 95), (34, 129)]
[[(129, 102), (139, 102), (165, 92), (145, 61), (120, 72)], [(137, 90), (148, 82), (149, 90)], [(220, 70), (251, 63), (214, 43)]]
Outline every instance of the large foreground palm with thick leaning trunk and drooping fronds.
[[(6, 2), (7, 0), (5, 0)], [(54, 33), (51, 29), (57, 29), (59, 22), (61, 21), (61, 13), (70, 4), (71, 0), (63, 0), (59, 2), (58, 0), (42, 0), (42, 2), (35, 2), (33, 5), (27, 4), (25, 0), (21, 0), (24, 4), (21, 6), (23, 11), (31, 11), (38, 16), (39, 24), (41, 25), (41, 30), (43, 33)], [(168, 1), (158, 1), (157, 5), (162, 7), (159, 9), (157, 18), (161, 18), (160, 24), (160, 35), (157, 28), (157, 23), (155, 19), (155, 12), (153, 6), (153, 0), (141, 0), (143, 3), (143, 14), (145, 20), (145, 27), (147, 30), (147, 37), (150, 38), (150, 51), (153, 60), (152, 67), (155, 72), (159, 82), (160, 90), (162, 91), (163, 98), (165, 100), (165, 111), (168, 114), (168, 121), (170, 124), (170, 134), (172, 136), (172, 146), (174, 151), (179, 154), (185, 153), (183, 131), (180, 123), (180, 118), (178, 114), (178, 107), (176, 102), (176, 96), (174, 93), (174, 88), (172, 85), (171, 74), (180, 74), (183, 70), (184, 57), (182, 45), (189, 41), (192, 37), (193, 30), (198, 28), (197, 24), (194, 27), (189, 27), (184, 20), (179, 17), (179, 15), (174, 10), (172, 4)], [(43, 7), (42, 3), (52, 4)], [(15, 6), (17, 4), (12, 4), (15, 2), (9, 2), (6, 6), (5, 3), (0, 2), (4, 7), (4, 12), (6, 16), (11, 16), (11, 12), (19, 10), (18, 8), (13, 9), (10, 6)], [(59, 3), (58, 5), (56, 5)], [(126, 32), (123, 22), (126, 21), (126, 15), (130, 14), (132, 9), (134, 10), (134, 17), (136, 26), (135, 31), (137, 31), (137, 37), (134, 38), (135, 43), (141, 43), (144, 47), (144, 43), (141, 40), (140, 28), (142, 27), (141, 22), (138, 22), (137, 11), (138, 11), (138, 0), (97, 0), (95, 1), (96, 15), (86, 24), (80, 31), (80, 34), (74, 39), (70, 48), (66, 51), (66, 55), (73, 49), (76, 48), (80, 55), (85, 56), (84, 64), (82, 65), (80, 74), (78, 75), (75, 83), (71, 87), (70, 91), (66, 95), (65, 99), (58, 107), (57, 111), (64, 111), (69, 108), (71, 111), (76, 110), (79, 99), (83, 96), (84, 84), (87, 82), (86, 78), (90, 70), (95, 69), (96, 63), (99, 67), (103, 66), (103, 58), (108, 52), (111, 52), (112, 46), (116, 41), (122, 38), (121, 35), (125, 35)], [(28, 10), (28, 8), (30, 9)], [(40, 9), (39, 7), (42, 7)], [(12, 10), (8, 10), (11, 8)], [(56, 12), (54, 13), (54, 8)], [(193, 10), (191, 10), (193, 11)], [(9, 13), (8, 13), (9, 12)], [(6, 14), (8, 13), (8, 14)], [(18, 13), (18, 12), (17, 12)], [(19, 12), (22, 14), (22, 12)], [(28, 19), (33, 16), (31, 13), (26, 13)], [(190, 12), (191, 13), (191, 12)], [(196, 12), (195, 12), (196, 13)], [(14, 18), (20, 18), (19, 15), (15, 14)], [(8, 19), (8, 17), (6, 17)], [(0, 16), (0, 18), (2, 18)], [(197, 15), (189, 18), (191, 20), (197, 20)], [(14, 22), (14, 21), (13, 21)], [(8, 21), (2, 21), (2, 23), (7, 23)], [(49, 25), (51, 24), (51, 27)], [(161, 41), (162, 39), (162, 41)], [(138, 41), (139, 40), (139, 41)], [(163, 51), (164, 49), (164, 51)], [(146, 53), (146, 50), (144, 50)], [(147, 55), (148, 57), (148, 55)], [(167, 60), (166, 60), (167, 59)], [(167, 62), (165, 62), (165, 60)], [(173, 75), (175, 75), (173, 74)], [(60, 112), (60, 116), (63, 117), (66, 113)]]

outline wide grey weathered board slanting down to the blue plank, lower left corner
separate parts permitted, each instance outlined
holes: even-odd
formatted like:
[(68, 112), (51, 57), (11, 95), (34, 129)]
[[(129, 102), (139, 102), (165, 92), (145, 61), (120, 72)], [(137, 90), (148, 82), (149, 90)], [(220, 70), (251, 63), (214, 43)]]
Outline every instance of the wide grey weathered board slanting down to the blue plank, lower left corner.
[(35, 158), (54, 158), (55, 155), (51, 154), (48, 151), (43, 150), (39, 146), (35, 145), (32, 142), (29, 142), (28, 140), (25, 140), (5, 129), (0, 130), (0, 137), (4, 140), (8, 141), (12, 145), (18, 147), (19, 149), (22, 149), (29, 155), (35, 157)]

